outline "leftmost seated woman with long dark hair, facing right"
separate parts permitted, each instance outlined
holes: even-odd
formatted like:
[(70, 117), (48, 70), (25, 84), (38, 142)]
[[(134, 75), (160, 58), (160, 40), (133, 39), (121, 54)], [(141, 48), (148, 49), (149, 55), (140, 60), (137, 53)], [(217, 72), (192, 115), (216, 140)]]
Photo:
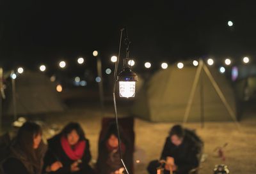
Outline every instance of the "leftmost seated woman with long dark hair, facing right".
[(42, 129), (35, 122), (25, 122), (10, 146), (10, 156), (2, 167), (5, 174), (40, 174), (46, 145), (42, 140)]

